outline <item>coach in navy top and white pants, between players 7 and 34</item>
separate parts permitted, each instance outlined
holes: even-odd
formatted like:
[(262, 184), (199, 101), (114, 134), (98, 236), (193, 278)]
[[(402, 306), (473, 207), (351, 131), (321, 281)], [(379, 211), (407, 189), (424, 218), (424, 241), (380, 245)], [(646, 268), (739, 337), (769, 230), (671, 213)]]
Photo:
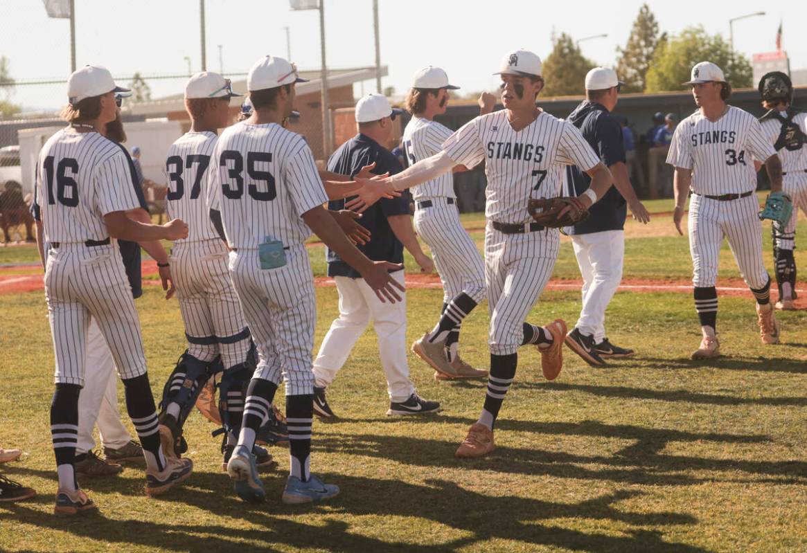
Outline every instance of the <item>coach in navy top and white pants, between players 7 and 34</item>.
[[(633, 355), (633, 350), (617, 347), (605, 336), (605, 310), (622, 279), (626, 205), (633, 218), (650, 221), (630, 184), (619, 120), (610, 113), (617, 106), (621, 85), (613, 69), (592, 69), (586, 75), (587, 99), (569, 115), (614, 179), (614, 185), (589, 210), (591, 217), (569, 229), (583, 275), (583, 309), (569, 337), (579, 343), (587, 354), (580, 355), (592, 365), (605, 364), (608, 357)], [(572, 166), (567, 169), (567, 181), (572, 195), (579, 196), (591, 184), (591, 177)]]

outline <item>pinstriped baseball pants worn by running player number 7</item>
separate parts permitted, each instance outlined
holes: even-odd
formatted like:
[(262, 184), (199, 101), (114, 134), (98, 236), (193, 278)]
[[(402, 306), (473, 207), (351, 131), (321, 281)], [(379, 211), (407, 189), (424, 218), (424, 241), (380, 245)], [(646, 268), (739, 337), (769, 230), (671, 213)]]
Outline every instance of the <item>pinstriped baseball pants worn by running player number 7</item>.
[(523, 323), (552, 276), (560, 245), (557, 229), (505, 235), (485, 232), (485, 277), (491, 312), (488, 346), (512, 355), (524, 340)]

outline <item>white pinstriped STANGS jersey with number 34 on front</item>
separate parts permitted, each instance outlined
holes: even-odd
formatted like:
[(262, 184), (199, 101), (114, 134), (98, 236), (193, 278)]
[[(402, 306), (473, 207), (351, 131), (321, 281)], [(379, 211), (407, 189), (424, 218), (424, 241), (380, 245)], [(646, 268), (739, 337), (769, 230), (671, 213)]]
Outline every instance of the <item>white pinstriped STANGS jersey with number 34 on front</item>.
[(757, 118), (729, 106), (715, 123), (700, 110), (679, 123), (667, 163), (692, 169), (692, 192), (720, 196), (755, 190), (754, 160), (767, 160), (775, 153)]

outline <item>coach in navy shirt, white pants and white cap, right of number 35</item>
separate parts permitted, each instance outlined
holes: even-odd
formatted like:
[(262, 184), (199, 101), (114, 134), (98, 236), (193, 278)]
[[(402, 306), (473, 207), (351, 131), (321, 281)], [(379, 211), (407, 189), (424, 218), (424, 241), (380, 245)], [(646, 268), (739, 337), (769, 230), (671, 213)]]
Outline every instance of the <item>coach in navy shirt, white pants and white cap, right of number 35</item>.
[[(374, 163), (374, 173), (400, 173), (399, 160), (382, 146), (390, 138), (392, 121), (401, 110), (393, 110), (381, 94), (369, 94), (356, 104), (358, 135), (349, 139), (328, 160), (333, 173), (355, 175), (363, 166)], [(328, 202), (329, 210), (341, 210), (345, 200)], [(431, 272), (432, 260), (420, 249), (406, 195), (383, 198), (370, 206), (359, 219), (370, 231), (370, 240), (357, 247), (374, 261), (403, 263), (403, 248), (415, 258), (423, 271)], [(440, 409), (437, 401), (421, 399), (409, 380), (406, 347), (406, 297), (396, 303), (382, 302), (362, 276), (334, 252), (327, 252), (328, 276), (332, 276), (339, 291), (339, 318), (331, 324), (320, 352), (314, 361), (314, 413), (323, 418), (334, 416), (325, 389), (345, 364), (353, 344), (370, 320), (378, 335), (378, 353), (387, 376), (390, 409), (387, 414), (423, 414)], [(403, 285), (403, 268), (392, 272)]]

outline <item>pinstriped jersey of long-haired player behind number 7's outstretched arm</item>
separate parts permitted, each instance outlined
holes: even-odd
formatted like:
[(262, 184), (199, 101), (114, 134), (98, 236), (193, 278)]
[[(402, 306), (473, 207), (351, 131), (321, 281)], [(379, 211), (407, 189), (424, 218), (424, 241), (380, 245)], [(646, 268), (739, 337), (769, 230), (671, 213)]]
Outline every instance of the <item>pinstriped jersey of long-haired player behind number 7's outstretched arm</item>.
[[(437, 123), (417, 117), (409, 120), (403, 130), (403, 152), (406, 155), (407, 163), (414, 165), (420, 160), (431, 157), (439, 153), (443, 148), (442, 144), (454, 134), (451, 129)], [(456, 198), (454, 193), (453, 173), (443, 173), (440, 177), (431, 181), (426, 181), (412, 190), (412, 199), (417, 201), (425, 198)]]

